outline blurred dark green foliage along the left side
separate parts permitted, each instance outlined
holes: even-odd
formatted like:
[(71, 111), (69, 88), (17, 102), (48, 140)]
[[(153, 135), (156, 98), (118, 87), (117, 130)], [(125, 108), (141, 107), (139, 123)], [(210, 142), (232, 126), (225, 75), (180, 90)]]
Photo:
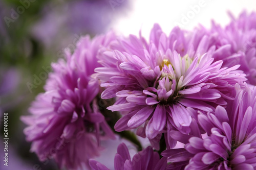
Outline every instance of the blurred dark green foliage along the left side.
[[(22, 2), (24, 1), (22, 0)], [(56, 169), (55, 163), (42, 164), (34, 153), (29, 152), (30, 143), (25, 140), (23, 134), (25, 125), (19, 119), (20, 115), (28, 114), (27, 109), (35, 96), (43, 91), (45, 80), (41, 80), (42, 82), (36, 88), (33, 88), (32, 92), (29, 90), (27, 83), (33, 84), (33, 75), (39, 76), (40, 72), (44, 71), (42, 66), (50, 66), (51, 62), (56, 61), (57, 58), (56, 54), (47, 51), (44, 44), (31, 35), (31, 27), (42, 17), (41, 11), (49, 2), (49, 0), (31, 2), (30, 6), (23, 13), (20, 13), (17, 19), (9, 23), (9, 27), (4, 18), (11, 18), (12, 9), (16, 11), (17, 7), (22, 6), (22, 4), (17, 0), (1, 2), (4, 11), (2, 11), (1, 16), (3, 30), (0, 30), (0, 71), (5, 73), (9, 69), (15, 69), (20, 79), (15, 89), (0, 96), (0, 108), (3, 113), (7, 112), (9, 116), (8, 137), (10, 147), (16, 151), (20, 159), (28, 162), (31, 169), (35, 164), (38, 164), (42, 169)], [(53, 6), (63, 2), (51, 1)], [(3, 136), (2, 125), (0, 130), (1, 136)], [(20, 168), (23, 170), (22, 167)]]

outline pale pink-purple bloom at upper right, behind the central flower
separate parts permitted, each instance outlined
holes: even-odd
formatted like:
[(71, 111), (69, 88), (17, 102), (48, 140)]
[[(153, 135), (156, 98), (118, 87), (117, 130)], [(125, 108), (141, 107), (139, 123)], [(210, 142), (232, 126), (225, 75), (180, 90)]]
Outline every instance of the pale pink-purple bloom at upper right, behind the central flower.
[(240, 64), (247, 82), (256, 85), (256, 13), (244, 11), (237, 19), (230, 16), (232, 21), (225, 28), (213, 22), (211, 30), (201, 27), (191, 32), (191, 37), (210, 37), (208, 43), (217, 49), (213, 56), (215, 61), (223, 60), (223, 66), (227, 67)]

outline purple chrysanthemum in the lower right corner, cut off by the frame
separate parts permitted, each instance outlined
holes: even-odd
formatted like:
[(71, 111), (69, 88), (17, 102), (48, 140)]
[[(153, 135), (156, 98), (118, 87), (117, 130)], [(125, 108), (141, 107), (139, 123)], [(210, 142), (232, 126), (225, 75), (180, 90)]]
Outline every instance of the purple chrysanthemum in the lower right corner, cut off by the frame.
[(241, 87), (236, 85), (236, 98), (226, 109), (218, 106), (215, 113), (198, 115), (206, 137), (170, 132), (188, 143), (185, 149), (162, 153), (170, 162), (168, 169), (255, 169), (256, 88)]

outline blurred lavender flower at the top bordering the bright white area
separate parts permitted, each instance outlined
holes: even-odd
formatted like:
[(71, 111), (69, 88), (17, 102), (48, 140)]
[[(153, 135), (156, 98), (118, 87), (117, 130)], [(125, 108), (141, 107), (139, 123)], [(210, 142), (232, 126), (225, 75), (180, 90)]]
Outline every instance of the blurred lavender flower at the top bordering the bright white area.
[(129, 2), (119, 1), (113, 9), (108, 0), (76, 1), (69, 3), (67, 8), (72, 11), (67, 15), (66, 22), (72, 33), (98, 34), (108, 29), (112, 19), (118, 14), (124, 15), (128, 11)]

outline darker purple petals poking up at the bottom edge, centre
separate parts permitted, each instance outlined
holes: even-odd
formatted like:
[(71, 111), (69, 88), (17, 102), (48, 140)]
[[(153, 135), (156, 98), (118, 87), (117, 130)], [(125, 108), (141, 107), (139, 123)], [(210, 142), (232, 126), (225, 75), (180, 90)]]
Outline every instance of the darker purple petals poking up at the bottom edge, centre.
[[(91, 159), (90, 166), (94, 170), (107, 170), (106, 166), (100, 162)], [(131, 159), (128, 148), (124, 143), (119, 144), (117, 154), (115, 155), (115, 170), (134, 169), (134, 170), (151, 170), (151, 169), (165, 169), (167, 166), (166, 158), (159, 158), (157, 152), (154, 152), (151, 147), (140, 151)]]

